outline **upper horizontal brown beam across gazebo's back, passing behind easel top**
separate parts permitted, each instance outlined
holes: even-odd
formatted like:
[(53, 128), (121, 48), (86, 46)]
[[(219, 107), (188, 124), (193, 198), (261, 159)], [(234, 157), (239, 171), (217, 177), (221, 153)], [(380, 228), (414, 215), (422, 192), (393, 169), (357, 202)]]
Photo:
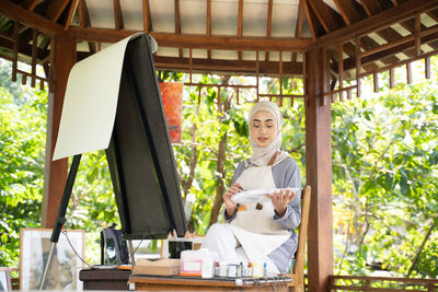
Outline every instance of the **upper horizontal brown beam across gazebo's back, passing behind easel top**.
[[(78, 40), (116, 43), (137, 31), (111, 28), (93, 28), (70, 26), (69, 34)], [(264, 37), (205, 36), (195, 34), (150, 33), (161, 47), (231, 49), (231, 50), (269, 50), (269, 51), (304, 51), (314, 42), (309, 38), (273, 37), (266, 42)]]

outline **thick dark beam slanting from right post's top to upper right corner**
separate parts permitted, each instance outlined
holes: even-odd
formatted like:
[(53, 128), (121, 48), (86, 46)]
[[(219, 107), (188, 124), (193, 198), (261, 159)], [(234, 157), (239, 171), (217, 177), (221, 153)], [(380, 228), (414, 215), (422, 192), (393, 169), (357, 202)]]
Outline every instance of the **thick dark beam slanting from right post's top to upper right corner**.
[(344, 43), (356, 36), (370, 34), (394, 23), (403, 22), (438, 5), (438, 0), (415, 0), (403, 3), (399, 7), (385, 10), (377, 15), (356, 22), (333, 33), (321, 36), (318, 45), (321, 47), (332, 47), (338, 43)]

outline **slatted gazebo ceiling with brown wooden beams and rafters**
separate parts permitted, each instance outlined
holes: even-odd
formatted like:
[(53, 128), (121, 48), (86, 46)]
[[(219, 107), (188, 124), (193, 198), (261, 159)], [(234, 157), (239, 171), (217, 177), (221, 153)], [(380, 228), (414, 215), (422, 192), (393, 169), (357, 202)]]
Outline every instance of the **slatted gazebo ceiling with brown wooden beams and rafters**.
[(1, 57), (31, 63), (34, 54), (43, 66), (62, 33), (81, 59), (148, 32), (157, 68), (208, 72), (276, 74), (281, 60), (283, 73), (301, 74), (302, 52), (316, 45), (353, 78), (357, 54), (362, 72), (374, 72), (438, 49), (436, 0), (2, 0), (0, 15)]

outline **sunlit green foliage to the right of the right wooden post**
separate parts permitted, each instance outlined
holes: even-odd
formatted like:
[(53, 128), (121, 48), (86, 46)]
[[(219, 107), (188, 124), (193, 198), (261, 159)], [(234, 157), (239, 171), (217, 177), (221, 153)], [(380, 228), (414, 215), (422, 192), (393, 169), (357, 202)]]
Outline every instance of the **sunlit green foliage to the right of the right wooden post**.
[(399, 84), (333, 106), (338, 272), (437, 277), (436, 83)]

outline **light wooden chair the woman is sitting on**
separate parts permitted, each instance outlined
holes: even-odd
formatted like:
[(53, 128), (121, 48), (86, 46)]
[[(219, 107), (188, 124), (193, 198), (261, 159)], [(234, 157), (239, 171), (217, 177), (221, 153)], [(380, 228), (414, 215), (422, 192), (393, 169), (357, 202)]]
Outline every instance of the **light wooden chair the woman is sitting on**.
[(308, 240), (310, 191), (311, 187), (307, 186), (302, 190), (301, 195), (301, 224), (298, 231), (298, 247), (295, 254), (292, 273), (289, 275), (289, 277), (292, 279), (291, 283), (289, 284), (289, 291), (293, 292), (304, 291), (304, 257), (306, 244)]

